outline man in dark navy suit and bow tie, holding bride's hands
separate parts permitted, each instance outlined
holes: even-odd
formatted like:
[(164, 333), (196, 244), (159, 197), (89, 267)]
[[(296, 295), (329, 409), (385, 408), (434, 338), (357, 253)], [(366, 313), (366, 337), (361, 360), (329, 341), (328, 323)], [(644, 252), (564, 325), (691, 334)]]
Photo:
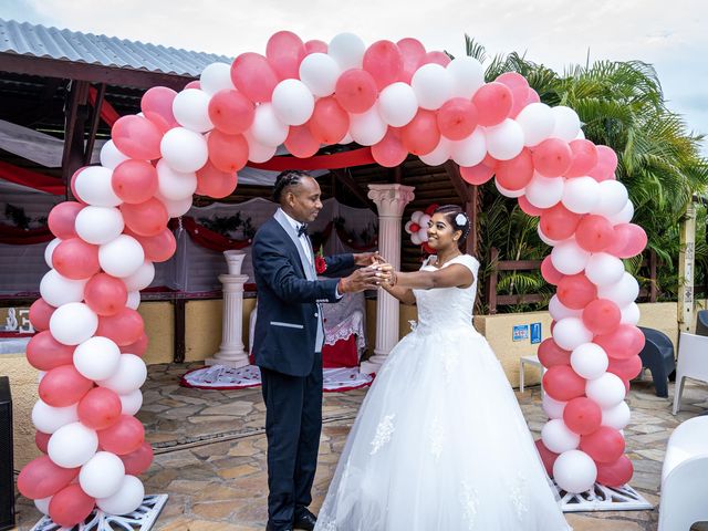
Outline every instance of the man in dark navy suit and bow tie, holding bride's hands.
[[(308, 510), (322, 429), (322, 302), (376, 289), (381, 274), (357, 269), (341, 279), (317, 280), (308, 222), (322, 209), (320, 186), (302, 171), (278, 176), (280, 208), (253, 239), (258, 315), (253, 341), (261, 369), (268, 437), (269, 531), (314, 529)], [(327, 257), (326, 274), (369, 266), (376, 254)]]

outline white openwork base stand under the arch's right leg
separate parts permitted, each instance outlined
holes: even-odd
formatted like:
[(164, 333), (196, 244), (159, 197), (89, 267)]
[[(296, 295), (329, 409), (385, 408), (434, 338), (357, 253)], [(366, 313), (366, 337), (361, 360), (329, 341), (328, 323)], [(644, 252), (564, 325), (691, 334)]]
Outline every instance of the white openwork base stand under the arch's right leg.
[(565, 492), (553, 483), (561, 498), (563, 512), (594, 512), (594, 511), (642, 511), (652, 510), (649, 503), (639, 492), (628, 485), (623, 487), (595, 486), (579, 494)]

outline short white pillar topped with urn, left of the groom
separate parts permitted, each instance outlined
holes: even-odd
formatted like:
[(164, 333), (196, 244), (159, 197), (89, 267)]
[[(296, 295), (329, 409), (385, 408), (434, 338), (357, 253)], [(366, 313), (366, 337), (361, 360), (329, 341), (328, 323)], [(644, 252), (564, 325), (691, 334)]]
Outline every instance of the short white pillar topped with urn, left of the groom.
[(223, 251), (229, 266), (228, 274), (220, 274), (223, 285), (223, 317), (221, 345), (214, 357), (207, 358), (207, 365), (225, 367), (243, 367), (249, 364), (248, 353), (243, 348), (243, 284), (248, 274), (241, 274), (241, 266), (246, 258), (243, 251)]

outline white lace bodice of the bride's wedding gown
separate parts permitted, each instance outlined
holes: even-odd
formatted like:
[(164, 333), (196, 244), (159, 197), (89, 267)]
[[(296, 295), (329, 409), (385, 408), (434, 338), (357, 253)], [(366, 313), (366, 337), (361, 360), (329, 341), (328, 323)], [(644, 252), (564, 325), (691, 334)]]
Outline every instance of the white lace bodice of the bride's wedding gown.
[[(420, 271), (435, 271), (430, 259), (420, 267)], [(477, 294), (477, 273), (479, 262), (469, 254), (460, 254), (442, 268), (454, 263), (462, 264), (472, 272), (475, 282), (469, 288), (438, 288), (435, 290), (413, 290), (418, 306), (418, 329), (446, 330), (459, 326), (472, 326), (472, 311)]]

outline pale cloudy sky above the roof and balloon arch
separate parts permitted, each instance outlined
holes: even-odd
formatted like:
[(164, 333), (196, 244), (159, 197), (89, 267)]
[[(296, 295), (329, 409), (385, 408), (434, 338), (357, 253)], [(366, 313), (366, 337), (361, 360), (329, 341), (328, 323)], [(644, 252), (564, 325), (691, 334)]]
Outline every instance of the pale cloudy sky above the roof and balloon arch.
[(488, 55), (525, 52), (560, 72), (589, 56), (639, 60), (656, 67), (669, 108), (708, 134), (706, 0), (2, 0), (0, 18), (228, 56), (264, 53), (290, 30), (303, 41), (414, 37), (454, 55), (468, 33)]

